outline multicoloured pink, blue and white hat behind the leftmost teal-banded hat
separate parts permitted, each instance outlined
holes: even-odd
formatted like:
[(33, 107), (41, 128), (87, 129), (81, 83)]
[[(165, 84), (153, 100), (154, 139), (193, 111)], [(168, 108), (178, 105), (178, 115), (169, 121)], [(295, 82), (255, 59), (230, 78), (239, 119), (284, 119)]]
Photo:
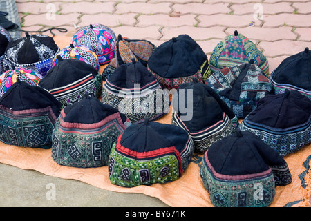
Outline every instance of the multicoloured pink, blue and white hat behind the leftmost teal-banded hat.
[(8, 70), (0, 75), (0, 97), (17, 81), (17, 78), (29, 85), (37, 85), (43, 77), (35, 70), (25, 68)]

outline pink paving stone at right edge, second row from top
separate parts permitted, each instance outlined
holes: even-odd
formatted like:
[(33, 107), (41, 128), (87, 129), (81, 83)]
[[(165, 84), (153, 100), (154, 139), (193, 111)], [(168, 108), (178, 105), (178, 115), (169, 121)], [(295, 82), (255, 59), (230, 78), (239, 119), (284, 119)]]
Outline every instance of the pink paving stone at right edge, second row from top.
[(279, 26), (293, 26), (293, 27), (311, 27), (310, 15), (288, 14), (282, 13), (279, 15), (265, 15), (263, 17), (263, 27), (279, 27)]

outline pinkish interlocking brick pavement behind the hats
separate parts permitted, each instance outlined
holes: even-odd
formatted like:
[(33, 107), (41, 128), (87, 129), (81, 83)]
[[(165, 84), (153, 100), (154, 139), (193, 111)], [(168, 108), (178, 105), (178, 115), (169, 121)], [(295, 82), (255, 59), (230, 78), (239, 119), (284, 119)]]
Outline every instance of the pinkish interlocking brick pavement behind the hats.
[(272, 71), (287, 56), (311, 48), (311, 0), (17, 0), (23, 30), (102, 23), (116, 35), (157, 46), (186, 33), (207, 55), (238, 30), (263, 50)]

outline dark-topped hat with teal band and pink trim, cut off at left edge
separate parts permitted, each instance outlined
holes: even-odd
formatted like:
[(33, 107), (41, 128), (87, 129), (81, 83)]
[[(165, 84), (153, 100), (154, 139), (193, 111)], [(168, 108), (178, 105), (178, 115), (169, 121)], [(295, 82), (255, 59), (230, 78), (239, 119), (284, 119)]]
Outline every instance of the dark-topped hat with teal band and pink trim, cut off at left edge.
[(46, 90), (17, 79), (0, 98), (0, 141), (50, 148), (59, 110), (60, 103)]

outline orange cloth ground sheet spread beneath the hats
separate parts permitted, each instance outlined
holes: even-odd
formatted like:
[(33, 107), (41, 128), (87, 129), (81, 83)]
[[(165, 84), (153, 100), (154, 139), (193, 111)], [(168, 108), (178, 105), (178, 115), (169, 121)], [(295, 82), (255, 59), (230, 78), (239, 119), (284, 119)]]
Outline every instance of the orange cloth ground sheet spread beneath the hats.
[[(59, 48), (70, 44), (70, 37), (55, 36)], [(100, 73), (105, 66), (100, 67)], [(171, 111), (157, 120), (171, 124)], [(200, 177), (200, 164), (203, 155), (194, 154), (185, 173), (178, 180), (166, 184), (135, 186), (126, 188), (115, 186), (109, 180), (108, 166), (98, 168), (74, 168), (60, 166), (53, 161), (51, 149), (10, 146), (0, 143), (0, 163), (20, 169), (32, 169), (63, 179), (73, 179), (108, 191), (120, 193), (142, 193), (162, 200), (172, 207), (213, 207), (209, 194)], [(292, 174), (292, 182), (286, 186), (276, 186), (276, 195), (270, 207), (308, 207), (311, 195), (311, 144), (298, 152), (284, 157)]]

